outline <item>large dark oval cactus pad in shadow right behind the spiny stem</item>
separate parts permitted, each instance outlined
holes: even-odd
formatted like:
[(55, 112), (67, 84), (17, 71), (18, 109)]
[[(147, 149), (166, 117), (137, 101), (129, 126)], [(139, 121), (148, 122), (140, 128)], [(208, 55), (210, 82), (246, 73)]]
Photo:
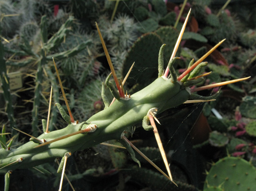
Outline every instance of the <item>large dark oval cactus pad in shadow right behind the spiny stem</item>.
[(140, 83), (143, 87), (158, 76), (158, 54), (161, 45), (162, 41), (155, 33), (145, 34), (134, 42), (124, 60), (123, 77), (126, 76), (132, 63), (135, 62), (126, 85)]

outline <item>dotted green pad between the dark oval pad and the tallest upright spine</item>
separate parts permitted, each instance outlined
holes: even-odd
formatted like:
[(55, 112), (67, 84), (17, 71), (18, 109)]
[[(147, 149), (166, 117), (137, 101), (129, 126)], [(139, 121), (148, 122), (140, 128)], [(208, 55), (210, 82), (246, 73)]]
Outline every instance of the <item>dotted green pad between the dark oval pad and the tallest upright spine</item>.
[[(159, 35), (161, 40), (163, 41), (166, 46), (164, 47), (163, 57), (164, 61), (166, 61), (166, 67), (168, 61), (172, 55), (172, 51), (175, 47), (177, 42), (177, 38), (179, 36), (178, 31), (174, 29), (172, 26), (163, 26), (155, 31), (156, 34)], [(180, 49), (178, 49), (176, 56), (180, 55)]]

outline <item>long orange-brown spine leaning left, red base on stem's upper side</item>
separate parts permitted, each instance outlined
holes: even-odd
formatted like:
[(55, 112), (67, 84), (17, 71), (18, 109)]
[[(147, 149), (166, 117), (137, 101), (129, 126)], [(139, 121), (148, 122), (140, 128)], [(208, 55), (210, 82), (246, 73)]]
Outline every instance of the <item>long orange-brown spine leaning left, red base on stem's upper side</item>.
[(100, 29), (99, 29), (99, 27), (98, 27), (97, 22), (95, 22), (95, 23), (96, 23), (96, 27), (97, 27), (98, 34), (99, 34), (100, 39), (101, 39), (101, 42), (102, 42), (102, 47), (103, 47), (103, 49), (104, 49), (107, 62), (108, 62), (108, 64), (109, 64), (110, 70), (111, 70), (111, 72), (112, 72), (112, 74), (113, 74), (113, 77), (114, 77), (114, 80), (115, 80), (115, 84), (116, 84), (117, 89), (118, 89), (118, 91), (119, 91), (119, 95), (120, 95), (121, 98), (124, 98), (124, 92), (122, 92), (122, 89), (120, 88), (120, 85), (119, 85), (119, 82), (118, 82), (118, 79), (117, 79), (117, 76), (116, 76), (116, 73), (115, 73), (115, 69), (114, 69), (113, 64), (112, 64), (112, 62), (111, 62), (110, 55), (109, 55), (109, 53), (108, 53), (108, 51), (107, 51), (106, 44), (105, 44), (105, 42), (104, 42), (104, 40), (103, 40), (101, 31), (100, 31)]

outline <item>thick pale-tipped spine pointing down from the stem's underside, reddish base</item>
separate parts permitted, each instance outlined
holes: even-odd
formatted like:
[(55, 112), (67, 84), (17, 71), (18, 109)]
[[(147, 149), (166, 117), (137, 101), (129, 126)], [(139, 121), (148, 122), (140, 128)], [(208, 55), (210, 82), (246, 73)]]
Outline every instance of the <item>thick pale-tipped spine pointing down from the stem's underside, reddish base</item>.
[[(166, 157), (166, 154), (164, 152), (163, 144), (162, 144), (162, 141), (160, 139), (158, 130), (157, 130), (156, 125), (154, 123), (154, 117), (153, 116), (154, 116), (154, 114), (150, 111), (150, 115), (148, 115), (148, 117), (150, 119), (151, 126), (154, 128), (153, 131), (154, 131), (155, 140), (156, 140), (156, 142), (158, 144), (158, 147), (159, 147), (160, 153), (162, 155), (163, 162), (165, 164), (166, 170), (167, 170), (167, 172), (169, 174), (170, 180), (172, 181), (172, 183), (174, 183), (174, 181), (172, 180), (172, 174), (171, 174), (170, 166), (168, 165), (167, 157)], [(174, 183), (174, 184), (177, 186), (176, 183)]]

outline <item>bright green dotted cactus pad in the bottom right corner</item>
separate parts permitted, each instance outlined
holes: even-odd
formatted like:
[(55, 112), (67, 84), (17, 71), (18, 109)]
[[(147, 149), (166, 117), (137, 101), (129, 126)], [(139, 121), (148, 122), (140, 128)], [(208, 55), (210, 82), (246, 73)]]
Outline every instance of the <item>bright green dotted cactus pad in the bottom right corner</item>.
[(225, 157), (212, 165), (207, 174), (204, 189), (208, 186), (221, 187), (224, 191), (256, 190), (256, 170), (242, 158)]

